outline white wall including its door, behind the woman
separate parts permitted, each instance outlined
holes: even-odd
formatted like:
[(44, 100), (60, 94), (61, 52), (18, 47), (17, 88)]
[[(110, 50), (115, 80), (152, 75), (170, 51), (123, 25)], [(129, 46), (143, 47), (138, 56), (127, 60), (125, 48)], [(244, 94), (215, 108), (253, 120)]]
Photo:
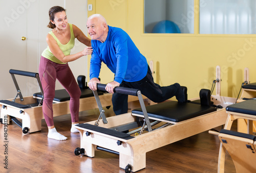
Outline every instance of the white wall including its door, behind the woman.
[[(9, 69), (38, 72), (38, 65), (42, 51), (47, 47), (46, 35), (51, 30), (47, 28), (49, 23), (48, 11), (52, 6), (62, 6), (67, 9), (70, 23), (75, 24), (87, 35), (87, 0), (0, 0), (0, 14), (2, 27), (0, 36), (2, 40), (0, 73), (0, 100), (13, 98), (16, 89), (11, 79)], [(22, 41), (21, 37), (27, 37)], [(76, 53), (85, 45), (76, 40), (71, 53)], [(79, 75), (87, 75), (87, 57), (70, 62), (71, 70), (75, 78)], [(32, 95), (39, 91), (34, 78), (16, 76), (23, 96)], [(57, 82), (56, 89), (62, 86)]]

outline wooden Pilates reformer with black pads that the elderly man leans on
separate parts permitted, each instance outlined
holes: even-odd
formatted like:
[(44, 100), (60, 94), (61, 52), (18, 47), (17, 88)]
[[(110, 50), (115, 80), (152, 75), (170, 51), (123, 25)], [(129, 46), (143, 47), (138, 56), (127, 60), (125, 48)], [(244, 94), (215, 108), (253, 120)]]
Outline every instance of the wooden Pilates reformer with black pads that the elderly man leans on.
[[(97, 87), (105, 90), (104, 84), (98, 84)], [(147, 107), (140, 90), (116, 87), (114, 92), (138, 96), (141, 108), (108, 117), (108, 123), (90, 121), (77, 125), (80, 147), (74, 153), (76, 156), (82, 154), (89, 157), (95, 156), (95, 150), (117, 154), (119, 167), (125, 169), (125, 172), (145, 168), (147, 152), (224, 125), (227, 118), (225, 109), (209, 106), (209, 90), (201, 94), (206, 95), (206, 103), (170, 101)], [(97, 95), (95, 98), (100, 102)], [(127, 130), (130, 132), (123, 133)]]

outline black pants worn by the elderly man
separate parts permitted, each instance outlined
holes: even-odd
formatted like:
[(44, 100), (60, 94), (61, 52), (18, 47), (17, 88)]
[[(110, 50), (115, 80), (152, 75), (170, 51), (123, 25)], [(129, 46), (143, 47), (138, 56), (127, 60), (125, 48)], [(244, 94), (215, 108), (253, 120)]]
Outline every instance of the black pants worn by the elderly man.
[[(137, 82), (122, 81), (120, 87), (139, 89), (143, 95), (156, 103), (166, 101), (167, 99), (175, 96), (181, 88), (178, 83), (164, 87), (154, 83), (150, 67), (148, 67), (147, 74), (142, 80)], [(114, 93), (112, 96), (112, 104), (116, 115), (127, 113), (128, 95)]]

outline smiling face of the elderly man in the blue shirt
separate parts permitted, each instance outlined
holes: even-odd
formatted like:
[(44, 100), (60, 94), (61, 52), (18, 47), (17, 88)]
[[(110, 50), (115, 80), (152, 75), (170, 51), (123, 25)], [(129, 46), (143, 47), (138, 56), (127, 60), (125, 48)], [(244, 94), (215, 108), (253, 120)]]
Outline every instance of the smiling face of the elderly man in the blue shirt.
[(92, 18), (87, 21), (88, 33), (92, 40), (102, 40), (104, 34), (104, 25), (98, 18)]

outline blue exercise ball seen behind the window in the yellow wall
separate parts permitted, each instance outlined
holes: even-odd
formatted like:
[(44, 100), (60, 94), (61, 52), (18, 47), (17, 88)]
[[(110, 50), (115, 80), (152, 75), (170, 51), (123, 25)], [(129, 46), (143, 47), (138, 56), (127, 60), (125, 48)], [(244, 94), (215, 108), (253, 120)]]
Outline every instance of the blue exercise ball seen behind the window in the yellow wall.
[(180, 29), (175, 22), (162, 20), (154, 26), (152, 33), (180, 33)]

